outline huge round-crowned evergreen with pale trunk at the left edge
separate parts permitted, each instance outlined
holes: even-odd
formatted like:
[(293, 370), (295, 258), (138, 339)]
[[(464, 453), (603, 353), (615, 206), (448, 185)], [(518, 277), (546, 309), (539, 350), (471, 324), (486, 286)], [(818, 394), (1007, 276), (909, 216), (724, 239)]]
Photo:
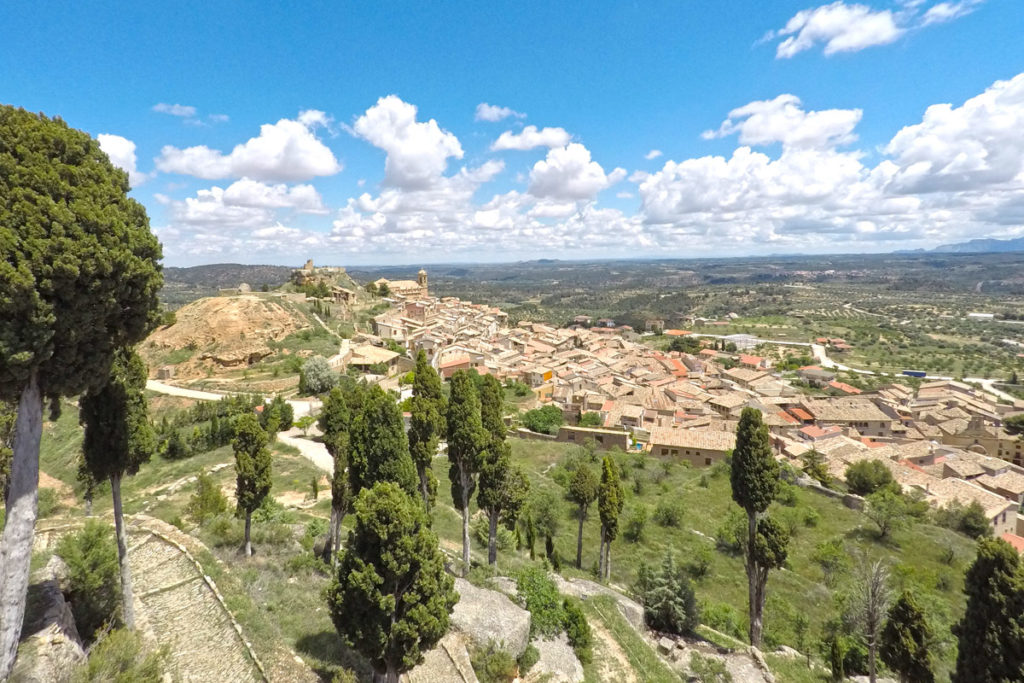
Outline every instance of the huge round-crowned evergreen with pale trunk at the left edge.
[(59, 119), (0, 105), (0, 400), (17, 401), (0, 537), (0, 680), (25, 618), (43, 400), (105, 380), (158, 321), (160, 243), (128, 175)]

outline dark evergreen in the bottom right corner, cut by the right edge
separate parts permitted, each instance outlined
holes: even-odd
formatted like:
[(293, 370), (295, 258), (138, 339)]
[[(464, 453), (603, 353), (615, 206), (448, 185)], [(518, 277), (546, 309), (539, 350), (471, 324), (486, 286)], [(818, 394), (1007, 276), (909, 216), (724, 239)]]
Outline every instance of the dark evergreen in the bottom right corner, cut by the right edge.
[(959, 642), (953, 683), (1024, 680), (1024, 578), (1001, 539), (982, 539), (964, 581), (967, 610), (953, 627)]

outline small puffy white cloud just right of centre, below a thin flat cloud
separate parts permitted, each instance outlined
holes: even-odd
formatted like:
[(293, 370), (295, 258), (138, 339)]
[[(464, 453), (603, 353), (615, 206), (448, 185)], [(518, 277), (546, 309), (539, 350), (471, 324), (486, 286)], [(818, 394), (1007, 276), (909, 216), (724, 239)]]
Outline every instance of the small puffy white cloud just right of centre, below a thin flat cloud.
[(561, 200), (592, 200), (603, 189), (626, 177), (616, 168), (609, 174), (590, 158), (590, 150), (572, 142), (548, 152), (529, 172), (529, 194), (534, 197)]

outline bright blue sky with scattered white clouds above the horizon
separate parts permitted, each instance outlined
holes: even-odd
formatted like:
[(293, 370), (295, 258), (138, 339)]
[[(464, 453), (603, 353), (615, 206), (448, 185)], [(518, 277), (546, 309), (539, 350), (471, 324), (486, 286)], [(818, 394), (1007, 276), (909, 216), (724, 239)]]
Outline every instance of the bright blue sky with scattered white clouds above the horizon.
[(293, 4), (8, 0), (0, 102), (99, 136), (170, 265), (1024, 234), (1019, 0)]

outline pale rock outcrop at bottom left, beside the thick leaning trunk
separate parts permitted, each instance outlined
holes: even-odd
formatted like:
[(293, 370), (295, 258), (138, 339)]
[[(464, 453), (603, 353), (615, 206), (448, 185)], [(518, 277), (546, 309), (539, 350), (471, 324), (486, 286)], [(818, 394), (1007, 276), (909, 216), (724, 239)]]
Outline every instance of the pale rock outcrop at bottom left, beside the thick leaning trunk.
[(26, 612), (12, 681), (70, 680), (75, 668), (85, 659), (71, 604), (62, 592), (67, 575), (68, 567), (54, 556), (33, 577), (29, 587), (30, 609)]

